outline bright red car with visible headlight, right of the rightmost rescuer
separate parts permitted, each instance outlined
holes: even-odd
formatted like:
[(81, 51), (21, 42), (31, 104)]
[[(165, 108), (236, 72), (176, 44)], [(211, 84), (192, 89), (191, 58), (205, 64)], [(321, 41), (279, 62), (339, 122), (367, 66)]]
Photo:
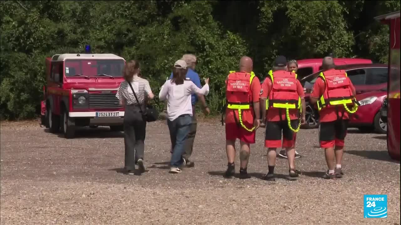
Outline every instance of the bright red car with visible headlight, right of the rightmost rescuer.
[(360, 106), (351, 114), (349, 127), (357, 127), (362, 132), (387, 133), (387, 121), (381, 118), (380, 108), (387, 97), (387, 88), (356, 95)]

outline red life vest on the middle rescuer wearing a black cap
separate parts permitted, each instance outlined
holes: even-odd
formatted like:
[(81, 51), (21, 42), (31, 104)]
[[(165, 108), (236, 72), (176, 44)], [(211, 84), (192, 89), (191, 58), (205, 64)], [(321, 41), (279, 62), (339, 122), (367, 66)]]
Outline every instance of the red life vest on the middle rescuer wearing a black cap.
[[(290, 108), (300, 107), (300, 96), (297, 92), (297, 78), (293, 72), (277, 70), (269, 73), (272, 82), (269, 92), (269, 105), (271, 108)], [(288, 104), (286, 106), (286, 104)], [(295, 107), (294, 107), (295, 106)]]

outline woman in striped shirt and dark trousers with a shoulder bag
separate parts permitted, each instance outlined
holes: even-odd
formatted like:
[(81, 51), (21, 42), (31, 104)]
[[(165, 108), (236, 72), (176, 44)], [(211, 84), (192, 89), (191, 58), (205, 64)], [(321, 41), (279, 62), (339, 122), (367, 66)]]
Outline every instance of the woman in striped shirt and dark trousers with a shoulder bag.
[[(143, 173), (146, 170), (144, 163), (144, 141), (146, 135), (146, 120), (144, 120), (140, 107), (147, 99), (153, 99), (154, 94), (150, 89), (149, 81), (138, 77), (140, 64), (136, 60), (128, 62), (123, 70), (125, 81), (122, 82), (117, 91), (120, 104), (125, 106), (124, 115), (124, 146), (125, 166), (129, 175), (134, 175), (135, 164)], [(131, 83), (132, 88), (129, 83)], [(134, 92), (138, 98), (135, 98)]]

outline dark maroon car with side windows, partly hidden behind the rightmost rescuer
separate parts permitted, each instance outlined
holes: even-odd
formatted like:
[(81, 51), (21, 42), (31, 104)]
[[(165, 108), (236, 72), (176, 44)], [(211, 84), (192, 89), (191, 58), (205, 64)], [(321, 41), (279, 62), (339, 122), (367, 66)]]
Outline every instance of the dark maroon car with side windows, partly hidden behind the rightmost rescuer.
[[(388, 67), (386, 64), (352, 64), (336, 66), (338, 70), (345, 70), (356, 89), (356, 94), (387, 88)], [(315, 72), (301, 79), (305, 90), (306, 125), (302, 128), (314, 129), (319, 127), (319, 113), (316, 106), (309, 105), (309, 95), (313, 84), (320, 72)], [(383, 101), (382, 101), (383, 102)]]

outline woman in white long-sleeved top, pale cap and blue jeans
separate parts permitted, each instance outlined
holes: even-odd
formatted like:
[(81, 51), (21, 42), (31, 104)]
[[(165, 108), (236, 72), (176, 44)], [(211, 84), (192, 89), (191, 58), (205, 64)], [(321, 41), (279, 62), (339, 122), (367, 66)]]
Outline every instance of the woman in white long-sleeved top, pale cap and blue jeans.
[(170, 173), (181, 173), (179, 167), (183, 163), (184, 141), (192, 123), (191, 94), (207, 95), (209, 93), (209, 78), (205, 80), (206, 84), (203, 88), (198, 88), (192, 81), (185, 79), (186, 72), (186, 62), (176, 61), (173, 78), (166, 80), (159, 93), (160, 100), (167, 99), (167, 125), (173, 149)]

